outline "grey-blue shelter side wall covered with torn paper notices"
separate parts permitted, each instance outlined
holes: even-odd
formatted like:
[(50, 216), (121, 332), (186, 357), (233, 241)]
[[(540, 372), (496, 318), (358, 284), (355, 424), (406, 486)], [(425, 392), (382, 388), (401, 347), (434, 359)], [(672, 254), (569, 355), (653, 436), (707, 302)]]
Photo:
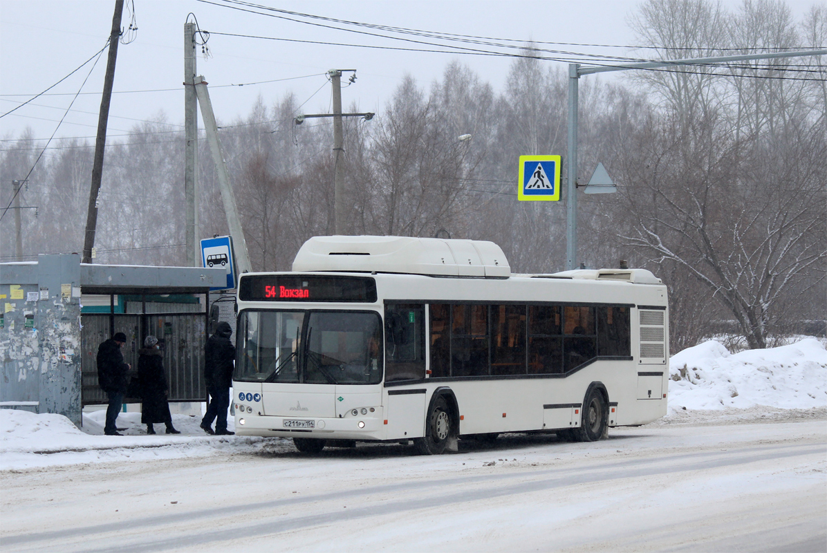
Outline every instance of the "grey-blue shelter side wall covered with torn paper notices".
[(80, 425), (80, 256), (0, 264), (0, 303), (0, 405)]

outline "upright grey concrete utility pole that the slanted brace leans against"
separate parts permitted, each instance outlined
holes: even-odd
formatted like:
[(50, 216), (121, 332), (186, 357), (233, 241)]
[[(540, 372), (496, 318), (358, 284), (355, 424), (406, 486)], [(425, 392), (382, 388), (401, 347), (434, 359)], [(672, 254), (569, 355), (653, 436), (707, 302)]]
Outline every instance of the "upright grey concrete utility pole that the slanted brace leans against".
[(198, 96), (195, 92), (195, 23), (184, 23), (184, 197), (187, 202), (184, 231), (187, 266), (201, 265), (198, 244)]

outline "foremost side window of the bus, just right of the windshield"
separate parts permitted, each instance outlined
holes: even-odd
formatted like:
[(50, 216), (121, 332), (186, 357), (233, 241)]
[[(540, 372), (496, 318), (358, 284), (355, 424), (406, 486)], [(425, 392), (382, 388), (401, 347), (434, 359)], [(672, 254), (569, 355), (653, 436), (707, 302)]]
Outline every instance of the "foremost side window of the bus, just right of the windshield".
[(425, 378), (425, 306), (385, 306), (385, 382)]

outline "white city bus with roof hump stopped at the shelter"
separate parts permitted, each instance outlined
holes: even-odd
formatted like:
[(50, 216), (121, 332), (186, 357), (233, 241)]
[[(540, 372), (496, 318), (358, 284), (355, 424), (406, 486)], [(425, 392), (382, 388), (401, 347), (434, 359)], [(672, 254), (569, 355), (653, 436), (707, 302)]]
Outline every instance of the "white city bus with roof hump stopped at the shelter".
[(595, 441), (666, 413), (668, 318), (643, 269), (518, 276), (492, 242), (315, 237), (293, 272), (241, 275), (236, 432), (304, 452)]

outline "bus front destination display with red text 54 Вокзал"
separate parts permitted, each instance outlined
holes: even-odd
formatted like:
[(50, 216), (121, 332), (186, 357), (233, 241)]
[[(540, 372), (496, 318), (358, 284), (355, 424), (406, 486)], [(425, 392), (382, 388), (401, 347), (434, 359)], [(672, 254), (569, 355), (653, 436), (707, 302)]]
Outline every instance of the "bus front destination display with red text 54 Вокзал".
[(375, 303), (376, 283), (369, 277), (245, 275), (238, 298), (252, 302)]

